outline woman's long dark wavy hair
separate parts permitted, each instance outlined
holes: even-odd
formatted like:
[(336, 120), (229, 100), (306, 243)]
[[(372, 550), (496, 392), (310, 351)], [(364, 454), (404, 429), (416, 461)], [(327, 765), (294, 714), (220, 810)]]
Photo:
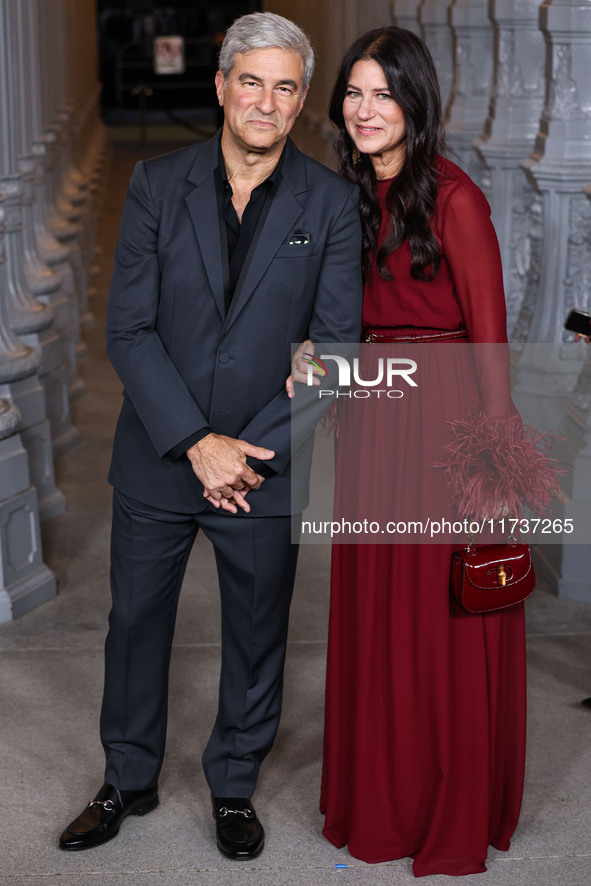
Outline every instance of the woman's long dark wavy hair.
[[(372, 59), (381, 67), (390, 95), (400, 106), (406, 122), (404, 166), (392, 181), (386, 198), (392, 230), (379, 250), (381, 210), (376, 196), (376, 175), (368, 156), (361, 154), (359, 161), (353, 163), (355, 145), (343, 118), (343, 100), (351, 69), (355, 62), (365, 59)], [(335, 148), (341, 173), (361, 190), (366, 276), (375, 257), (380, 276), (391, 280), (386, 257), (408, 238), (412, 276), (432, 280), (441, 263), (437, 239), (430, 225), (439, 178), (435, 154), (443, 150), (445, 138), (439, 82), (433, 59), (423, 41), (412, 31), (396, 27), (377, 28), (359, 37), (343, 58), (330, 100), (329, 116), (339, 130)]]

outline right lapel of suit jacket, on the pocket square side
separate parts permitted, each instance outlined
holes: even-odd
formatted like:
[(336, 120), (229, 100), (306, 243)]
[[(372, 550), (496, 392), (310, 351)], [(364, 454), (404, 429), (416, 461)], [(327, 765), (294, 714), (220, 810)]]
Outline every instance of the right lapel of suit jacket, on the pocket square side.
[(271, 203), (256, 249), (238, 280), (230, 311), (224, 324), (224, 332), (232, 325), (247, 303), (273, 261), (275, 253), (302, 214), (303, 206), (296, 195), (306, 190), (306, 170), (303, 157), (293, 142), (288, 139), (277, 193)]

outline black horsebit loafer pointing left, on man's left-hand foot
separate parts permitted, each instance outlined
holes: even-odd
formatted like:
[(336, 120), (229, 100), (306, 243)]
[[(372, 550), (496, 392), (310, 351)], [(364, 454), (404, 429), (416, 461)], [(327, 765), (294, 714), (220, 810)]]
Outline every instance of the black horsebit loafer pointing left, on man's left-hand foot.
[(60, 837), (60, 849), (91, 849), (112, 840), (128, 815), (145, 815), (158, 805), (158, 785), (145, 791), (124, 791), (104, 784), (84, 812), (68, 825)]

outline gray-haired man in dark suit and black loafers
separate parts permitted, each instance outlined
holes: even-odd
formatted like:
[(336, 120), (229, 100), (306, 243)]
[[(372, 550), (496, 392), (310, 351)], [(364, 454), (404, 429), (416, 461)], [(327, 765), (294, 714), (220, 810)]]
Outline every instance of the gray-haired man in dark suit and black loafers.
[(292, 22), (238, 19), (216, 75), (221, 136), (138, 163), (131, 180), (107, 314), (125, 387), (110, 472), (107, 765), (62, 849), (103, 843), (158, 804), (176, 606), (198, 529), (222, 600), (219, 710), (203, 755), (217, 843), (230, 858), (263, 848), (250, 798), (279, 723), (291, 515), (307, 495), (292, 495), (292, 448), (294, 460), (311, 451), (290, 434), (291, 343), (359, 341), (361, 322), (355, 192), (288, 138), (312, 67)]

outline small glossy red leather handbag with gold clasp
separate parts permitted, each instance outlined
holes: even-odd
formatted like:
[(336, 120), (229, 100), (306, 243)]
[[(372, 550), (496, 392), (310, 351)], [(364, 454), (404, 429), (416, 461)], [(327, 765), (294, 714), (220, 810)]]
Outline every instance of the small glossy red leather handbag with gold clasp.
[(515, 606), (533, 593), (536, 576), (529, 546), (469, 544), (452, 557), (451, 592), (467, 612)]

